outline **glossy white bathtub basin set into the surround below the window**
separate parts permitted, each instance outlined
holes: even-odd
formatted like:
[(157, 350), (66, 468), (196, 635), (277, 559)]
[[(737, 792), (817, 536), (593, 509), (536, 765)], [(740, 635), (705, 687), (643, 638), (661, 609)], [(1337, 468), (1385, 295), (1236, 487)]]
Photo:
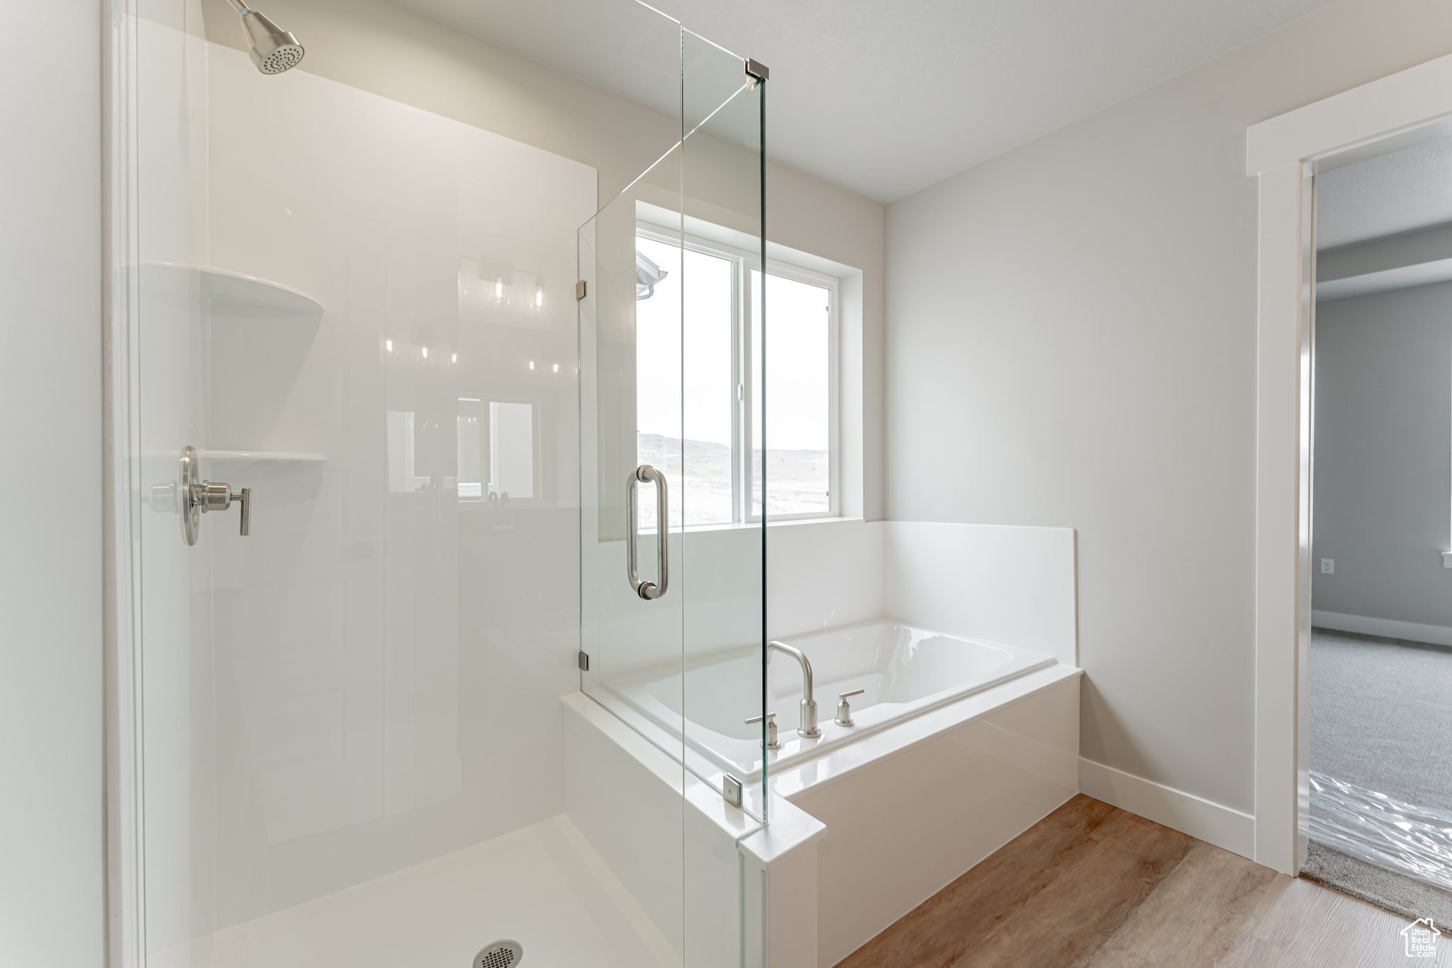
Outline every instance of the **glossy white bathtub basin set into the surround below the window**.
[[(777, 714), (780, 750), (761, 759), (761, 655), (736, 649), (700, 656), (680, 666), (643, 669), (603, 684), (616, 713), (661, 749), (680, 753), (703, 779), (732, 774), (748, 784), (847, 743), (921, 717), (964, 697), (1056, 665), (1053, 656), (980, 639), (931, 631), (896, 621), (873, 621), (783, 643), (800, 649), (812, 663), (819, 739), (797, 734), (802, 668), (772, 650), (768, 662), (768, 711)], [(852, 726), (838, 726), (838, 694), (851, 697)], [(621, 708), (624, 707), (624, 708)]]

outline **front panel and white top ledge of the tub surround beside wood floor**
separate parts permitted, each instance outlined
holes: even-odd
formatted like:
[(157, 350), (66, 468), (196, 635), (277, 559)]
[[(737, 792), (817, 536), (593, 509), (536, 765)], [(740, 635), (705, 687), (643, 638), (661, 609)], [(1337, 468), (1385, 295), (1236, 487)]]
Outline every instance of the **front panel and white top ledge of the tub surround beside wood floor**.
[(777, 794), (826, 824), (819, 968), (1079, 792), (1080, 675), (1031, 672), (777, 776)]

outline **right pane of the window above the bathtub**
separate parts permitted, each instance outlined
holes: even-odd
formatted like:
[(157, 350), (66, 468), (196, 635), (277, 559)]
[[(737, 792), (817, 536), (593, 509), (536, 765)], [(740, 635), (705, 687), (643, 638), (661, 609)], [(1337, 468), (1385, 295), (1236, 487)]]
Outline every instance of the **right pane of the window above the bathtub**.
[[(752, 292), (761, 273), (752, 271)], [(831, 290), (767, 274), (767, 512), (831, 509)], [(759, 302), (758, 302), (759, 306)], [(752, 514), (761, 514), (761, 313), (752, 313)]]

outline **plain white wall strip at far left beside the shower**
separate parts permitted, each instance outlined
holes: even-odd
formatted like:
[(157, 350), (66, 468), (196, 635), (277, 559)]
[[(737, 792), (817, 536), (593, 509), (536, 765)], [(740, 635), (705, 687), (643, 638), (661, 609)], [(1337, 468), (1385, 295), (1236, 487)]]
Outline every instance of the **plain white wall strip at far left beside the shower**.
[(0, 58), (0, 962), (100, 965), (100, 4)]

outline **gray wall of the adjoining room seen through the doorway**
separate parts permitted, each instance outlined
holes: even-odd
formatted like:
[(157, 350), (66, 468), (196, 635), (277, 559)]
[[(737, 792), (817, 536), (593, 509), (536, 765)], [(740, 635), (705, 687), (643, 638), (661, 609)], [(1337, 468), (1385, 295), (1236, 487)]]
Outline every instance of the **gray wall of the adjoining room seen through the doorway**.
[(1317, 306), (1314, 454), (1313, 608), (1452, 627), (1452, 283)]

